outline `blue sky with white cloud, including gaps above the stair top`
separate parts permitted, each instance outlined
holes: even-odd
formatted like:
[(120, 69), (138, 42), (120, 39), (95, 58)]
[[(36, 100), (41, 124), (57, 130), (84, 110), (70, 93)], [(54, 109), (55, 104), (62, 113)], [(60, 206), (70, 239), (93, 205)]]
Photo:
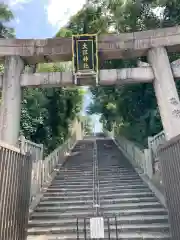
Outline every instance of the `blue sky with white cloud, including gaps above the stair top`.
[[(15, 15), (10, 23), (17, 38), (50, 38), (66, 25), (86, 0), (4, 0)], [(84, 97), (83, 113), (91, 101), (90, 94)], [(95, 131), (101, 130), (99, 117), (93, 116)]]

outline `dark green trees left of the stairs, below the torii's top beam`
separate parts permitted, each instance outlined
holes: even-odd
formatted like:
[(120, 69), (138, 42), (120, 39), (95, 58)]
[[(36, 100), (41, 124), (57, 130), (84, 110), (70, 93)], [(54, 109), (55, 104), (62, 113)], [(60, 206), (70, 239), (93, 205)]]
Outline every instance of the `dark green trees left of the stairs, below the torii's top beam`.
[[(40, 64), (39, 72), (67, 71), (66, 64)], [(43, 143), (46, 153), (62, 144), (69, 126), (82, 109), (84, 92), (77, 88), (24, 89), (21, 131), (26, 138)]]

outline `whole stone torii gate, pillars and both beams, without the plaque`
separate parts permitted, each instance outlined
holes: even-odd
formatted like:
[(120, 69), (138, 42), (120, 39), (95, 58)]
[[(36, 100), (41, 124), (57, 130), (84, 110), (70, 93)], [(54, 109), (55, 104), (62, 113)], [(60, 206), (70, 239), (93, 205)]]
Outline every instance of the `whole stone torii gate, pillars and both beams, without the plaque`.
[[(72, 60), (72, 39), (1, 39), (0, 59), (5, 60), (2, 88), (0, 138), (15, 145), (19, 136), (21, 88), (74, 84), (72, 72), (22, 73), (26, 64)], [(102, 35), (98, 41), (101, 62), (147, 56), (149, 64), (137, 68), (101, 70), (100, 85), (152, 82), (166, 138), (180, 133), (180, 101), (174, 78), (180, 77), (178, 61), (170, 64), (168, 52), (180, 51), (180, 27)], [(82, 81), (84, 85), (89, 84)]]

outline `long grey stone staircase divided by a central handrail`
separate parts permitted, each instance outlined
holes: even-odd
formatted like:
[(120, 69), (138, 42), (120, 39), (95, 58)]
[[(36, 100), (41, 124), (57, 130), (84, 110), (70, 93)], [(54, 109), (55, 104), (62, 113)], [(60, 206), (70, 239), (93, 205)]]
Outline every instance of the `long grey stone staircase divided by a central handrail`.
[[(96, 140), (99, 216), (105, 239), (170, 240), (167, 211), (112, 140)], [(29, 219), (28, 240), (90, 239), (93, 140), (77, 143)]]

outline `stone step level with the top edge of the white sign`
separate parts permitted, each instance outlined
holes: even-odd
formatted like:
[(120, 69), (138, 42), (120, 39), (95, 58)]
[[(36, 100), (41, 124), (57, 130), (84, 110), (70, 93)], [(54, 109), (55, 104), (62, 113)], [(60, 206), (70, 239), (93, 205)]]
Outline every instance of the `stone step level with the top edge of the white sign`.
[[(151, 223), (168, 223), (168, 216), (119, 216), (116, 218), (117, 224), (151, 224)], [(86, 219), (89, 222), (89, 219)], [(115, 219), (109, 218), (110, 224), (114, 224)], [(52, 220), (29, 220), (29, 227), (46, 227), (46, 226), (76, 226), (77, 218), (71, 219), (52, 219)], [(84, 225), (84, 219), (78, 219), (78, 225)]]

